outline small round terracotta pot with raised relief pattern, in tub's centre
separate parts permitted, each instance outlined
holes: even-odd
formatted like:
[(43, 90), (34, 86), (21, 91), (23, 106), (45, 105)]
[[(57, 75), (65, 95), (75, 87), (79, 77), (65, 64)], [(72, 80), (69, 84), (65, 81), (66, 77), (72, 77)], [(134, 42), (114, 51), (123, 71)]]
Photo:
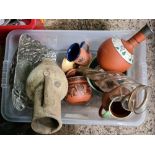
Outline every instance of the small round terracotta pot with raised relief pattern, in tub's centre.
[(72, 105), (86, 104), (92, 98), (92, 89), (84, 76), (68, 78), (66, 101)]

